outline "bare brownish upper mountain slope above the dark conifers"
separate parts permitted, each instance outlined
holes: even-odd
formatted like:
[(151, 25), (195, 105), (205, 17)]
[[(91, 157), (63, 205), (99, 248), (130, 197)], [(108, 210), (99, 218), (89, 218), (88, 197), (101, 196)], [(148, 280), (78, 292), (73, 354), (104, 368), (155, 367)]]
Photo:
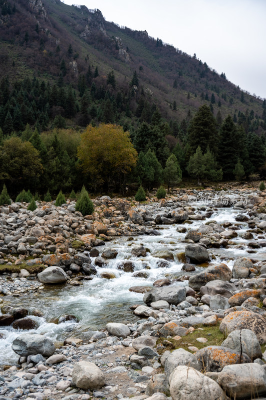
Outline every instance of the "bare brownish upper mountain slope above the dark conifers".
[(139, 90), (129, 100), (133, 113), (143, 88), (169, 120), (190, 117), (211, 101), (215, 115), (218, 110), (222, 117), (228, 113), (238, 117), (239, 111), (247, 116), (252, 111), (262, 122), (262, 99), (243, 92), (225, 73), (219, 75), (196, 54), (190, 56), (146, 31), (107, 22), (98, 9), (60, 0), (0, 0), (0, 7), (1, 70), (11, 82), (33, 76), (57, 82), (63, 59), (64, 83), (77, 88), (90, 65), (93, 71), (98, 68), (96, 87), (106, 88), (106, 78), (113, 70), (116, 86), (128, 96), (136, 70)]

